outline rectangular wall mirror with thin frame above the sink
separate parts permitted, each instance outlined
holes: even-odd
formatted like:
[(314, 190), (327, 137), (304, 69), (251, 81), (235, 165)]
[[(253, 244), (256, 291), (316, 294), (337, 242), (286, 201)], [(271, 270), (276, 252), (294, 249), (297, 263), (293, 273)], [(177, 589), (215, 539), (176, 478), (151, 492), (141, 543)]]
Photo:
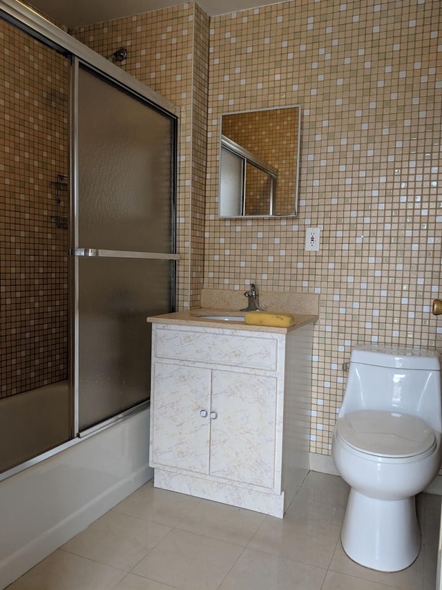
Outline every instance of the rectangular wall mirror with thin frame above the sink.
[(220, 217), (298, 213), (300, 105), (221, 115)]

